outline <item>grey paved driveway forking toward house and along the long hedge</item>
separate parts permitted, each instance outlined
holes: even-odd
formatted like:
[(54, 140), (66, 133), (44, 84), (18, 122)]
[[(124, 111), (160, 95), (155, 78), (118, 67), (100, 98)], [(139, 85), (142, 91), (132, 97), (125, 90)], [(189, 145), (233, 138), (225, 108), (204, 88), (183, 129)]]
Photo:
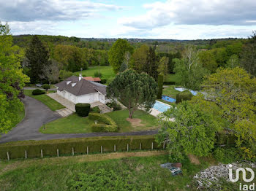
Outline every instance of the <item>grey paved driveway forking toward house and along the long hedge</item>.
[(39, 133), (39, 128), (43, 122), (50, 122), (59, 119), (61, 116), (51, 111), (48, 106), (42, 104), (34, 98), (26, 96), (23, 99), (25, 104), (25, 118), (9, 133), (0, 136), (0, 143), (9, 141), (25, 140), (48, 140), (48, 139), (68, 139), (93, 136), (143, 136), (154, 135), (157, 130), (144, 130), (127, 133), (72, 133), (72, 134), (43, 134)]

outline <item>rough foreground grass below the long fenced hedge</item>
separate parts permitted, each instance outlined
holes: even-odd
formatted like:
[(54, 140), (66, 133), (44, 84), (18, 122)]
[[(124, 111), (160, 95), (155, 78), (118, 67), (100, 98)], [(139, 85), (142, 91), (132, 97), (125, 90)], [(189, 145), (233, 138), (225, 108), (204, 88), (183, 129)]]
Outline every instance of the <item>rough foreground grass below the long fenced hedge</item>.
[(150, 190), (194, 190), (192, 177), (209, 165), (207, 160), (202, 160), (201, 165), (192, 165), (184, 160), (183, 176), (171, 176), (170, 171), (159, 166), (170, 162), (168, 155), (112, 160), (106, 160), (106, 155), (112, 154), (97, 155), (96, 159), (103, 160), (94, 162), (88, 159), (93, 155), (1, 162), (5, 166), (0, 168), (1, 190), (69, 190), (68, 182), (75, 175), (94, 174), (100, 168), (114, 171), (118, 176), (124, 177), (123, 179), (128, 179), (130, 184), (137, 183), (140, 190), (145, 185), (151, 187)]

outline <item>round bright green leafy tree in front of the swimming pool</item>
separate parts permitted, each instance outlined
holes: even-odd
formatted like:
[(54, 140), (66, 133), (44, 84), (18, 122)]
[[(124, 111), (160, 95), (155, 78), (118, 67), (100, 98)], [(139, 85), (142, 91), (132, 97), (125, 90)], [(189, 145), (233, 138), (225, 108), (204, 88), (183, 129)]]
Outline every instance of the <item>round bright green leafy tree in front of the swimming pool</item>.
[[(167, 120), (175, 118), (175, 120)], [(219, 123), (214, 114), (201, 109), (199, 104), (183, 101), (159, 117), (157, 141), (165, 143), (170, 157), (182, 160), (184, 155), (207, 156), (214, 148)]]

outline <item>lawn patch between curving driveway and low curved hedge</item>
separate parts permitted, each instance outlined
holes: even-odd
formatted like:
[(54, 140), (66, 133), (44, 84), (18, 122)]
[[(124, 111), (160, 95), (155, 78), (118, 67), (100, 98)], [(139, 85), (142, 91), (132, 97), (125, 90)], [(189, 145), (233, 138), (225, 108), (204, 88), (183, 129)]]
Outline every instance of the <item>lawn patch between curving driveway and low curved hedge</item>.
[(59, 134), (59, 133), (91, 133), (92, 121), (88, 117), (79, 117), (78, 114), (72, 114), (68, 117), (48, 122), (45, 129), (40, 128), (41, 133)]

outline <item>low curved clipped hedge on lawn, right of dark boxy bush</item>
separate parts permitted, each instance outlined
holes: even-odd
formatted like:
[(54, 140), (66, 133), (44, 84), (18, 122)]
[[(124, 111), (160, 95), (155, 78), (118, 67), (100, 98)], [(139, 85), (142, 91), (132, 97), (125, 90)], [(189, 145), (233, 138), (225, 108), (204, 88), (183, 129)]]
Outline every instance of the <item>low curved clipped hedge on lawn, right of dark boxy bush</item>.
[(111, 119), (108, 115), (90, 113), (89, 119), (97, 121), (97, 124), (91, 125), (92, 132), (116, 132), (118, 131), (118, 126), (116, 122)]

